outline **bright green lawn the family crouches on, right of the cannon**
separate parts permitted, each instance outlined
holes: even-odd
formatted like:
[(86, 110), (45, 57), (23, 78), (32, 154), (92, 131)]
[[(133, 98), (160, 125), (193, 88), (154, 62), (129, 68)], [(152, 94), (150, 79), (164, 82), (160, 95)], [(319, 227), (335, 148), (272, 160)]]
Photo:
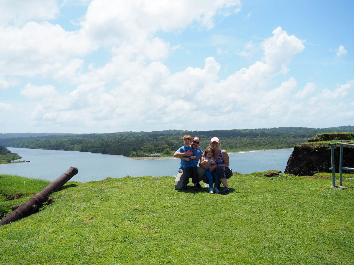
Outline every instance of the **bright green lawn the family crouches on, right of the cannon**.
[(354, 180), (234, 174), (231, 192), (173, 177), (67, 184), (0, 227), (4, 264), (354, 264)]

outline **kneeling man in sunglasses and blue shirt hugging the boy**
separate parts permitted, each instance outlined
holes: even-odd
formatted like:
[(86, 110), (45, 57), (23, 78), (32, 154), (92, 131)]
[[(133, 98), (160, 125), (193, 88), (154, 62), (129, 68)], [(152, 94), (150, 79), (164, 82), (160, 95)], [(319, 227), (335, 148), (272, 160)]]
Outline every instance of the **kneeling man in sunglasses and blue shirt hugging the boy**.
[[(201, 155), (203, 154), (203, 151), (200, 148), (198, 148), (199, 143), (200, 143), (199, 137), (194, 136), (192, 138), (192, 142), (190, 144), (190, 147), (192, 147), (195, 150), (195, 154), (196, 154), (195, 160), (196, 160), (197, 165), (199, 164), (198, 161), (200, 160)], [(193, 155), (192, 150), (187, 150), (185, 153), (179, 153), (176, 151), (175, 154), (173, 154), (173, 157), (182, 158), (185, 156), (190, 157), (191, 155)], [(197, 181), (198, 182), (197, 182), (196, 187), (198, 189), (201, 188), (201, 185), (199, 184), (199, 182), (202, 181), (204, 175), (205, 175), (204, 169), (202, 167), (197, 166)], [(181, 160), (178, 174), (175, 179), (175, 189), (177, 189), (177, 190), (179, 190), (179, 189), (185, 190), (186, 189), (186, 186), (183, 184), (184, 179), (185, 179), (185, 174), (183, 173), (182, 160)]]

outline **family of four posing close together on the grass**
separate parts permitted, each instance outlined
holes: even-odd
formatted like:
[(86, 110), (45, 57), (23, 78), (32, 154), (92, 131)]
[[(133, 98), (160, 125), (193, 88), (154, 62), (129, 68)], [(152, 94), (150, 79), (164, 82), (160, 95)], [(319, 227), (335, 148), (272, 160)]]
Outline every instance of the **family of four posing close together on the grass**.
[[(173, 154), (173, 157), (181, 159), (175, 180), (175, 189), (187, 189), (189, 178), (192, 178), (193, 190), (195, 191), (201, 188), (199, 182), (203, 181), (209, 183), (210, 194), (228, 194), (230, 189), (227, 179), (232, 176), (232, 170), (229, 167), (229, 155), (225, 150), (220, 149), (219, 139), (213, 137), (210, 140), (210, 146), (204, 152), (198, 148), (200, 138), (197, 136), (192, 138), (190, 135), (184, 135), (183, 143), (184, 146)], [(221, 183), (223, 189), (219, 191)]]

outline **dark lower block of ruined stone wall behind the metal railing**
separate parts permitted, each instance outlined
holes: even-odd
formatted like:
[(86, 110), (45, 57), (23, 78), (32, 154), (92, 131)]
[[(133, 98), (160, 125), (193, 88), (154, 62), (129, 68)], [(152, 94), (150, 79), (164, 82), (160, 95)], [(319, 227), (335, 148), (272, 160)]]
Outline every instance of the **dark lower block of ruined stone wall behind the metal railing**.
[[(339, 145), (335, 151), (335, 171), (339, 172)], [(343, 166), (354, 167), (354, 147), (343, 146)], [(331, 148), (328, 142), (304, 143), (295, 146), (284, 173), (297, 176), (313, 176), (317, 172), (331, 172)], [(349, 173), (343, 170), (345, 173)]]

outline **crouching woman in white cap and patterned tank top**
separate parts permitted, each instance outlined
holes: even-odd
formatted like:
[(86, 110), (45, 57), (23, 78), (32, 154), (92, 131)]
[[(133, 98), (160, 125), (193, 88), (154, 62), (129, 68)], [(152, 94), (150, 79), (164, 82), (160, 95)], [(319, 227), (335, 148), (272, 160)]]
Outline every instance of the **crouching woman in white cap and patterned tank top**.
[(211, 172), (214, 170), (216, 171), (218, 178), (224, 186), (220, 194), (228, 194), (230, 189), (227, 185), (227, 179), (232, 176), (232, 170), (229, 167), (229, 154), (225, 150), (220, 149), (220, 141), (218, 137), (213, 137), (210, 140), (210, 146), (213, 148), (213, 159), (215, 160), (216, 165), (210, 166), (209, 170)]

